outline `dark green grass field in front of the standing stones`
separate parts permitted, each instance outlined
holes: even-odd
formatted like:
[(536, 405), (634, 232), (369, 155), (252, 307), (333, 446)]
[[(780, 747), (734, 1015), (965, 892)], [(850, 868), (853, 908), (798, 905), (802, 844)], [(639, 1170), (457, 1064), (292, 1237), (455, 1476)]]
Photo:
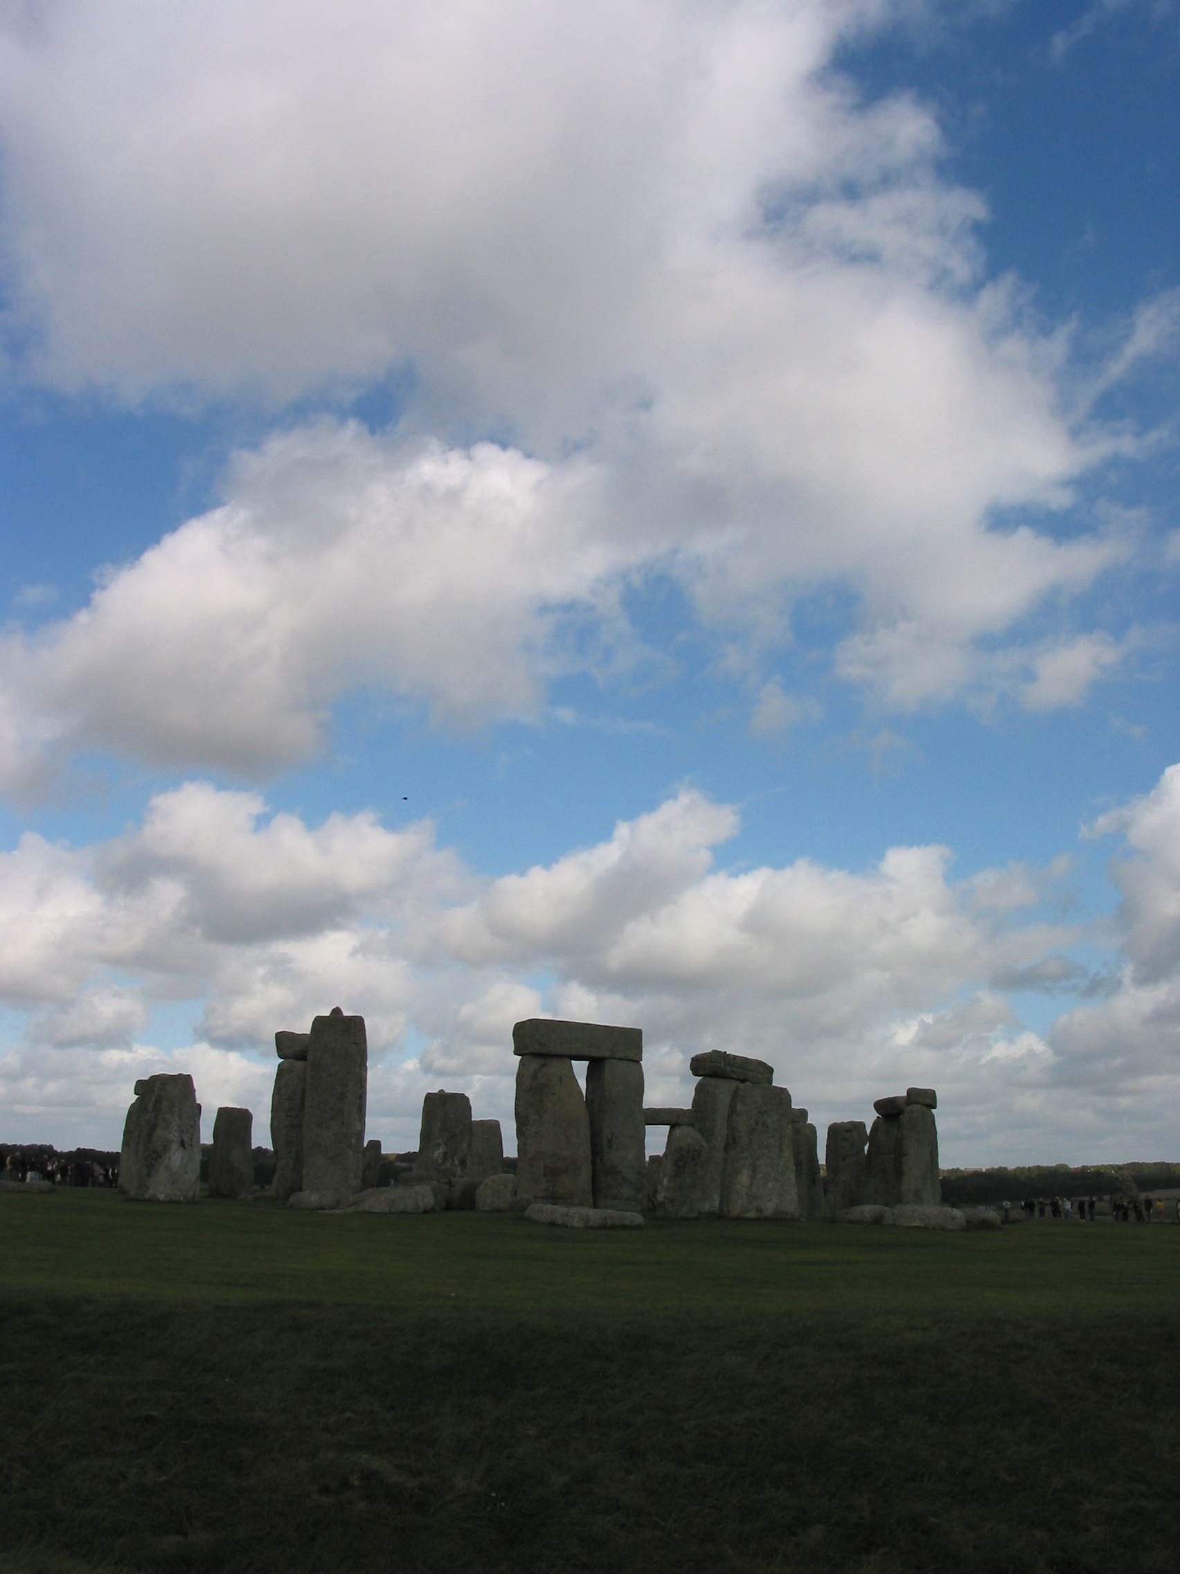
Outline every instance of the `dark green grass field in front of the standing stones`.
[(1172, 1569), (1180, 1229), (0, 1195), (0, 1574)]

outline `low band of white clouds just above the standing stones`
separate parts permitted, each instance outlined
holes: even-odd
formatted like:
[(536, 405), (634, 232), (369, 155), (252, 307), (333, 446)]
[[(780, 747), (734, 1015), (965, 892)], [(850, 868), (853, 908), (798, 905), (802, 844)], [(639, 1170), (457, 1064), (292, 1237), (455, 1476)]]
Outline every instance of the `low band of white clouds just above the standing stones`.
[[(595, 847), (488, 880), (426, 825), (312, 828), (189, 784), (115, 842), (25, 837), (8, 855), (3, 1001), (30, 1015), (0, 1058), (6, 1124), (116, 1141), (134, 1078), (187, 1067), (209, 1111), (245, 1102), (263, 1132), (274, 1029), (341, 1004), (368, 1023), (370, 1130), (398, 1147), (441, 1084), (470, 1092), (511, 1146), (511, 1025), (541, 1012), (639, 1023), (653, 1102), (686, 1099), (691, 1055), (721, 1047), (771, 1061), (820, 1125), (933, 1084), (952, 1157), (1150, 1146), (1180, 1092), (1177, 784), (1180, 767), (1098, 822), (1133, 850), (1112, 866), (1125, 971), (1048, 1033), (1012, 992), (1100, 982), (1068, 955), (1097, 932), (1040, 916), (1064, 859), (963, 883), (939, 847), (864, 870), (725, 869), (735, 811), (683, 790)], [(146, 1045), (145, 1015), (184, 1001), (195, 1047)]]

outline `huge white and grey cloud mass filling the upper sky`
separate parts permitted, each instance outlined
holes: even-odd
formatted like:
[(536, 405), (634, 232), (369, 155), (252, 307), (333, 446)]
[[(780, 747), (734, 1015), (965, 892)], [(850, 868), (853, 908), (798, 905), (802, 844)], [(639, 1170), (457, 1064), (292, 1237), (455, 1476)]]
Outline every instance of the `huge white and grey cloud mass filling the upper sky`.
[[(1064, 414), (1067, 337), (980, 282), (985, 209), (931, 112), (832, 74), (894, 9), (9, 17), (14, 376), (411, 389), (396, 436), (272, 438), (223, 508), (9, 637), (9, 789), (44, 787), (47, 749), (264, 776), (367, 683), (535, 716), (554, 671), (626, 660), (620, 595), (650, 573), (752, 647), (848, 587), (837, 671), (895, 708), (1012, 688), (996, 648), (1127, 556), (1034, 527), (1115, 436)], [(1174, 315), (1141, 313), (1127, 365)]]

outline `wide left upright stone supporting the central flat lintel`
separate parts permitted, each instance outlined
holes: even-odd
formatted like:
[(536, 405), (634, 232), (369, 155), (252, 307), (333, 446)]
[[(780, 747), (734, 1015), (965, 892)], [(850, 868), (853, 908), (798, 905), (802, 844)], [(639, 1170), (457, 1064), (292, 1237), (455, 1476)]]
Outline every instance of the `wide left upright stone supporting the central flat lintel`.
[(555, 1203), (590, 1207), (590, 1118), (574, 1067), (522, 1055), (516, 1067), (516, 1207)]

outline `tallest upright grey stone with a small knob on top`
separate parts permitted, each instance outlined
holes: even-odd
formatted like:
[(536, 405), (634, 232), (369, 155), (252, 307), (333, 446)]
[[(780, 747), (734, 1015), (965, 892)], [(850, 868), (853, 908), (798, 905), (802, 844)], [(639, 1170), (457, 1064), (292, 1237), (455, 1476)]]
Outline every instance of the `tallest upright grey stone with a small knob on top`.
[(365, 1018), (337, 1006), (316, 1017), (307, 1047), (304, 1190), (346, 1203), (360, 1190), (368, 1044)]

